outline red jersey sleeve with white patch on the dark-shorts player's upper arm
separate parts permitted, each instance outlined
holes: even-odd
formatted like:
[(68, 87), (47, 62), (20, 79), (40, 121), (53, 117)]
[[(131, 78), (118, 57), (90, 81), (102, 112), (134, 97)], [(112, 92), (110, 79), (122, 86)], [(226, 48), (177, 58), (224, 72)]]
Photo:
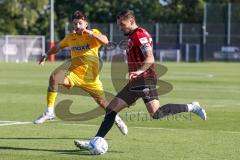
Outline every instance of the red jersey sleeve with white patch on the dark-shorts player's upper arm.
[(137, 34), (137, 46), (141, 49), (143, 54), (149, 53), (153, 50), (152, 37), (146, 31)]

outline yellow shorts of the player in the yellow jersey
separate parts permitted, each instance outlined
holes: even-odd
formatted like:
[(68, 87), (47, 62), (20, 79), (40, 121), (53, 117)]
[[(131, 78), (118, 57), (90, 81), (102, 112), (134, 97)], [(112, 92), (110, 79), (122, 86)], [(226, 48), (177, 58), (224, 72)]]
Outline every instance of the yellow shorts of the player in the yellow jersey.
[(82, 78), (79, 78), (74, 72), (69, 72), (67, 79), (69, 80), (71, 87), (78, 86), (93, 97), (97, 98), (104, 95), (102, 82), (98, 78), (95, 81), (86, 82)]

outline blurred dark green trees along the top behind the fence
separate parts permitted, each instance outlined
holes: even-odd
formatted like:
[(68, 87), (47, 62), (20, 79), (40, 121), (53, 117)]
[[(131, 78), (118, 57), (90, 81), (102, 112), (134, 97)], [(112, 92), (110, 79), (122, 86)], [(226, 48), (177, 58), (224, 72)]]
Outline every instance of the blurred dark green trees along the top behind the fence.
[[(55, 39), (62, 38), (71, 14), (82, 10), (90, 22), (116, 22), (122, 9), (132, 9), (140, 23), (201, 23), (205, 2), (236, 3), (239, 0), (55, 0)], [(0, 0), (0, 35), (45, 35), (49, 38), (49, 0)]]

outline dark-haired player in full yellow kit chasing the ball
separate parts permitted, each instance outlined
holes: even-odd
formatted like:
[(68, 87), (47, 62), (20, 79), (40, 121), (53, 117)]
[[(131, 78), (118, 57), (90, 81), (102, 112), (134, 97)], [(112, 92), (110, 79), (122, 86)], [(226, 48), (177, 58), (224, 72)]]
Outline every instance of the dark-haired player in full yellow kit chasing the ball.
[[(68, 34), (58, 45), (50, 49), (46, 55), (40, 59), (43, 65), (49, 55), (58, 53), (62, 48), (71, 49), (71, 65), (68, 74), (63, 80), (59, 79), (61, 71), (53, 73), (49, 78), (49, 87), (47, 93), (47, 108), (45, 112), (38, 117), (34, 123), (41, 124), (46, 120), (55, 118), (54, 103), (57, 96), (58, 85), (64, 85), (71, 89), (76, 86), (88, 92), (102, 108), (108, 106), (103, 92), (102, 82), (99, 80), (99, 57), (98, 49), (102, 45), (108, 44), (108, 38), (101, 34), (97, 29), (87, 29), (88, 22), (86, 16), (76, 11), (72, 15), (74, 32)], [(127, 134), (128, 129), (122, 119), (117, 116), (116, 125), (123, 134)]]

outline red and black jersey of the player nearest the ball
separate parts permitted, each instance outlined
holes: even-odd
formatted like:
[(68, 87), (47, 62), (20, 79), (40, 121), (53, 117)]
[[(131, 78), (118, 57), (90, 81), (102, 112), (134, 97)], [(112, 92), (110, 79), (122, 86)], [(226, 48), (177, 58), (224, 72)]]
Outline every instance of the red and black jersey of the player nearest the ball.
[[(143, 62), (145, 61), (145, 53), (142, 52), (141, 48), (145, 46), (151, 46), (151, 48), (153, 48), (152, 37), (145, 29), (139, 27), (129, 35), (127, 50), (129, 73), (137, 71), (143, 65)], [(155, 78), (156, 73), (154, 65), (139, 75), (139, 77)]]

